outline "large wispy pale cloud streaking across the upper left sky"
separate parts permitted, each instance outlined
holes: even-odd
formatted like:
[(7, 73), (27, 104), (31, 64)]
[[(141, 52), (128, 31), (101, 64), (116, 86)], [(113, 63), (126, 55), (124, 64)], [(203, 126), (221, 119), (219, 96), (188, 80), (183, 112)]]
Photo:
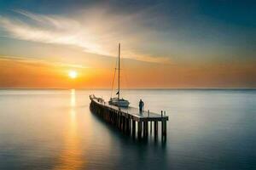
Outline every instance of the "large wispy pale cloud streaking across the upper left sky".
[[(117, 43), (122, 42), (122, 57), (148, 62), (169, 62), (163, 56), (141, 53), (139, 39), (153, 36), (143, 27), (143, 14), (116, 15), (108, 10), (91, 9), (73, 16), (32, 14), (15, 10), (20, 17), (0, 16), (0, 26), (10, 37), (32, 42), (72, 45), (84, 52), (105, 56), (117, 55)], [(154, 41), (154, 40), (153, 40)]]

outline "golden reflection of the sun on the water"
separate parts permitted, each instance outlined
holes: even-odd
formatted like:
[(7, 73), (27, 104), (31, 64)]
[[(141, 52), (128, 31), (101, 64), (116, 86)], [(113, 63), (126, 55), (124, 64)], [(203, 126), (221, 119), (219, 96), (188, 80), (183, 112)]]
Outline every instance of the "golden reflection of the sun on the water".
[(55, 169), (81, 169), (84, 160), (82, 159), (82, 151), (79, 145), (79, 136), (77, 131), (77, 117), (75, 111), (76, 95), (75, 90), (71, 90), (70, 98), (70, 118), (67, 125), (67, 135), (64, 149), (61, 152), (58, 166)]

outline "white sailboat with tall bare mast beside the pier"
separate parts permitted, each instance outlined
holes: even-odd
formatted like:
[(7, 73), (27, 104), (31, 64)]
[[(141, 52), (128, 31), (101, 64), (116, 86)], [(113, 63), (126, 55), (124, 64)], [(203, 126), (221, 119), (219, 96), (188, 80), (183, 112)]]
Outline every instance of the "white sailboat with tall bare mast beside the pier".
[(118, 56), (118, 60), (119, 60), (119, 68), (118, 68), (118, 73), (119, 73), (119, 77), (118, 77), (118, 92), (116, 93), (118, 95), (117, 98), (110, 98), (108, 101), (109, 105), (115, 105), (118, 107), (128, 107), (130, 105), (130, 102), (126, 99), (120, 99), (120, 48), (121, 45), (119, 43), (119, 56)]

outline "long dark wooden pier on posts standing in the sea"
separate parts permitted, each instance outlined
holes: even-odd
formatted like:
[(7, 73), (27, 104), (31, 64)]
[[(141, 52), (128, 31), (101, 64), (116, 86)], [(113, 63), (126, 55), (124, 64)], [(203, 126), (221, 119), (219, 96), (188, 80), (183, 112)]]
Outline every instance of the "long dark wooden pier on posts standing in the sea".
[[(166, 122), (168, 116), (166, 112), (160, 114), (151, 111), (139, 111), (135, 107), (117, 107), (108, 105), (102, 98), (90, 95), (90, 111), (100, 116), (104, 121), (112, 124), (127, 135), (132, 135), (138, 139), (147, 138), (148, 134), (158, 138), (159, 124), (161, 125), (161, 136), (166, 139)], [(154, 125), (154, 129), (153, 129)], [(154, 132), (154, 134), (153, 134)]]

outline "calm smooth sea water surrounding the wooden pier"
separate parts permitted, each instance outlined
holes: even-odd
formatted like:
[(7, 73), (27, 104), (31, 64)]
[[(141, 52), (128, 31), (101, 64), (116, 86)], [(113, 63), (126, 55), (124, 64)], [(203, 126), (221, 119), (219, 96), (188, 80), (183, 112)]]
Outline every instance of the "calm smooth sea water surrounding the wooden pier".
[(166, 111), (166, 144), (102, 122), (89, 94), (111, 92), (0, 90), (0, 169), (256, 169), (255, 90), (125, 91)]

